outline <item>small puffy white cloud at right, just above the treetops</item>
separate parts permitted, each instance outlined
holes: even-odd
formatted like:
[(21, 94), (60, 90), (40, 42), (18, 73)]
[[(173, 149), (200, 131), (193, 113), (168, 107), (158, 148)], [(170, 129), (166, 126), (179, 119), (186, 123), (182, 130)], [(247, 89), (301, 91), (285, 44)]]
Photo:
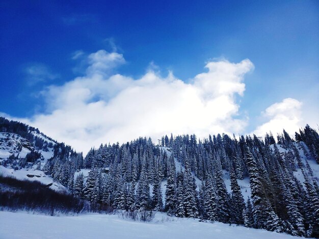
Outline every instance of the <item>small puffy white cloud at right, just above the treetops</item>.
[(263, 117), (268, 118), (269, 121), (258, 126), (253, 133), (263, 136), (271, 131), (273, 135), (276, 135), (285, 129), (289, 134), (294, 135), (302, 126), (301, 106), (302, 102), (293, 98), (286, 98), (282, 102), (269, 106), (262, 112)]

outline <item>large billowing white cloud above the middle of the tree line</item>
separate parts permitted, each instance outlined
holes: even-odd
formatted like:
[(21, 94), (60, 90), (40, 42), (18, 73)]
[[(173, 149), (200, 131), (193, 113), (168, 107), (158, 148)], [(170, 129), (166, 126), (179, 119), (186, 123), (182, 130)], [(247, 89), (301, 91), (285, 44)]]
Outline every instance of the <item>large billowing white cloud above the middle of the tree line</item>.
[(207, 72), (191, 83), (171, 72), (163, 78), (151, 67), (139, 79), (110, 76), (113, 68), (125, 63), (116, 52), (99, 50), (88, 61), (85, 76), (42, 92), (46, 113), (20, 120), (85, 153), (100, 143), (139, 136), (156, 140), (172, 132), (203, 138), (246, 127), (246, 118), (236, 118), (240, 106), (234, 96), (243, 96), (244, 75), (253, 69), (249, 59), (237, 64), (209, 62)]

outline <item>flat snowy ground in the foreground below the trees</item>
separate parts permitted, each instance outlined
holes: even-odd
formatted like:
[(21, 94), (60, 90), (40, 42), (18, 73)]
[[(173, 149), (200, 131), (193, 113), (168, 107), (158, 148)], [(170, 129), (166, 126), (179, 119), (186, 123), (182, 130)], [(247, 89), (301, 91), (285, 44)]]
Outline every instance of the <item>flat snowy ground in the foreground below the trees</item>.
[(297, 238), (260, 229), (205, 223), (194, 219), (167, 217), (157, 213), (150, 223), (134, 222), (117, 215), (50, 217), (0, 212), (0, 238)]

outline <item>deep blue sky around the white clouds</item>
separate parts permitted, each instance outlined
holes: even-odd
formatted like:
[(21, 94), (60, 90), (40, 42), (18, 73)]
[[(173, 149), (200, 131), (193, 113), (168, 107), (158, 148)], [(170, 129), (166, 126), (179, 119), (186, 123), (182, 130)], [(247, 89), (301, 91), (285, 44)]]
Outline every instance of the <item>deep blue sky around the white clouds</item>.
[[(318, 1), (2, 1), (0, 21), (0, 112), (31, 124), (58, 109), (50, 87), (88, 75), (90, 54), (99, 50), (123, 58), (107, 63), (113, 65), (106, 78), (138, 80), (153, 69), (186, 84), (209, 62), (249, 59), (245, 91), (231, 96), (238, 106), (231, 118), (245, 118), (237, 130), (254, 132), (271, 121), (276, 114), (265, 110), (286, 98), (302, 104), (295, 105), (295, 126), (317, 123)], [(99, 100), (100, 94), (90, 102)]]

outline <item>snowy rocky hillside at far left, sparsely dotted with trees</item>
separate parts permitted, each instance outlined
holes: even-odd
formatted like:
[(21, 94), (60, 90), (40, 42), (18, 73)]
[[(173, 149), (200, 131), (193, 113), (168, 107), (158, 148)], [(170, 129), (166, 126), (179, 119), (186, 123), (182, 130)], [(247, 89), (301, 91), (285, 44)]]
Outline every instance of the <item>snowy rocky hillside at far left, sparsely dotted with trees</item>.
[[(0, 117), (0, 175), (18, 180), (38, 181), (56, 191), (67, 192), (43, 168), (52, 158), (77, 155), (70, 146), (59, 143), (34, 127)], [(80, 155), (82, 157), (82, 154)]]

